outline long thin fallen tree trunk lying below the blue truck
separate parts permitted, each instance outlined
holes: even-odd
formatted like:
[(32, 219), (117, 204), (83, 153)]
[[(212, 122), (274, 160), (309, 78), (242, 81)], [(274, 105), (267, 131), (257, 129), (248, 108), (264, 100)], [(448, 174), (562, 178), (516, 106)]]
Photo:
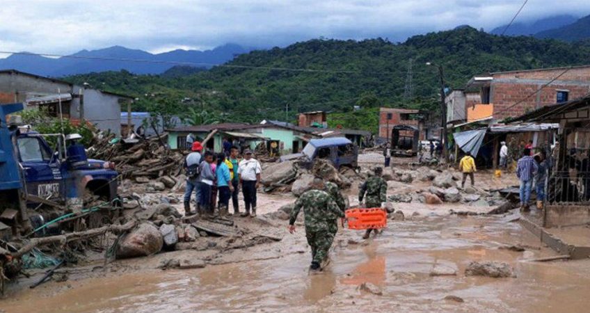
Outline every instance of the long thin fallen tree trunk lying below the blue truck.
[(94, 228), (92, 230), (86, 230), (84, 232), (71, 232), (70, 234), (63, 234), (58, 236), (49, 236), (49, 237), (40, 237), (40, 238), (33, 238), (29, 243), (26, 243), (22, 248), (20, 248), (17, 252), (11, 253), (10, 255), (15, 258), (22, 257), (26, 252), (33, 250), (33, 248), (37, 246), (46, 245), (48, 243), (61, 243), (62, 245), (68, 243), (70, 241), (77, 241), (81, 239), (88, 239), (91, 237), (99, 236), (105, 234), (106, 232), (113, 232), (114, 234), (120, 234), (122, 232), (127, 232), (131, 230), (131, 228), (135, 227), (135, 221), (131, 220), (127, 222), (125, 225), (109, 225), (99, 228)]

